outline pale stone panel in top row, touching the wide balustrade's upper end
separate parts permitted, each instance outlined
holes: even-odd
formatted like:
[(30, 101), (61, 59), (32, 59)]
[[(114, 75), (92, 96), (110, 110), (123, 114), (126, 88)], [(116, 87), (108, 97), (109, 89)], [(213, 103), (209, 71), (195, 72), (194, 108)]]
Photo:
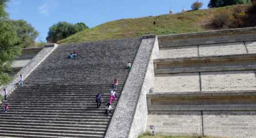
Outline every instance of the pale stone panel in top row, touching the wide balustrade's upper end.
[(197, 57), (198, 47), (196, 46), (182, 46), (182, 47), (166, 47), (159, 50), (159, 58), (184, 58)]

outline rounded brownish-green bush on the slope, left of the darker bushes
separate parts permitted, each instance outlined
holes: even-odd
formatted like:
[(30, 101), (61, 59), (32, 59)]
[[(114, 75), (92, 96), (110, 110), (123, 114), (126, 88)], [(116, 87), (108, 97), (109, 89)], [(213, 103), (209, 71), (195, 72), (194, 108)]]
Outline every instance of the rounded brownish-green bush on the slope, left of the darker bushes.
[(215, 15), (211, 23), (215, 28), (223, 28), (229, 26), (231, 22), (231, 16), (227, 13), (222, 13)]

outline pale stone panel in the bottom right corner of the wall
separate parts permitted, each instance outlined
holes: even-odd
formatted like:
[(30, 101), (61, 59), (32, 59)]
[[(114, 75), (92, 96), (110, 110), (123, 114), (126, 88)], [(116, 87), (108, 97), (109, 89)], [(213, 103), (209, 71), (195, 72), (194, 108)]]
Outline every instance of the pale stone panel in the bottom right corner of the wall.
[(256, 135), (256, 112), (203, 112), (204, 134), (254, 138)]

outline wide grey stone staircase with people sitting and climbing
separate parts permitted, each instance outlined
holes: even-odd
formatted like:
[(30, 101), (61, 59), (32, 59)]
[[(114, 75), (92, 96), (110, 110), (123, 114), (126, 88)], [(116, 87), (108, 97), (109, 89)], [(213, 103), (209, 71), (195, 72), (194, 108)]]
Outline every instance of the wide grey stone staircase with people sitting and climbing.
[[(0, 114), (0, 137), (104, 137), (112, 117), (105, 115), (111, 84), (117, 77), (120, 95), (129, 73), (126, 62), (133, 62), (140, 41), (60, 45), (1, 104), (10, 110)], [(68, 59), (72, 51), (79, 58)]]

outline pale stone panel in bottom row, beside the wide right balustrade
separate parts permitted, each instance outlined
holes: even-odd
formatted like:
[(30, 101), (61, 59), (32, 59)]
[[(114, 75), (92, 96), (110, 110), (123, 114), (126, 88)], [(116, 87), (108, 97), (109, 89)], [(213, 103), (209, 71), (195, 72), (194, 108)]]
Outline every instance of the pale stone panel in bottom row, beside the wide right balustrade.
[(147, 116), (147, 128), (156, 127), (157, 133), (167, 135), (201, 135), (200, 112), (151, 112)]

